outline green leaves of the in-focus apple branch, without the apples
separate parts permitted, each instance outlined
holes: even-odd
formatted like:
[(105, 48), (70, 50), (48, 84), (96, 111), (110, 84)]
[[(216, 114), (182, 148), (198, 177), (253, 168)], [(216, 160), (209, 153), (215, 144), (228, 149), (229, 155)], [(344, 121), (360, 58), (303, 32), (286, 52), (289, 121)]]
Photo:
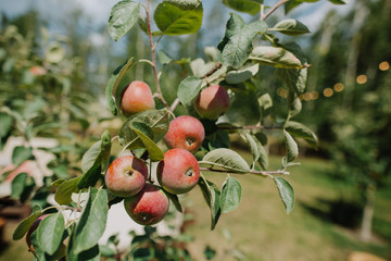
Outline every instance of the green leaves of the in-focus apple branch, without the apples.
[[(148, 163), (150, 165), (148, 182), (153, 183), (151, 166), (164, 157), (163, 152), (166, 148), (163, 140), (169, 121), (172, 117), (182, 114), (200, 119), (205, 128), (206, 137), (200, 151), (195, 153), (201, 172), (227, 174), (227, 178), (220, 187), (206, 179), (202, 174), (198, 183), (211, 210), (211, 229), (216, 227), (223, 214), (234, 211), (241, 201), (242, 187), (234, 175), (257, 175), (273, 178), (287, 213), (292, 210), (293, 188), (287, 179), (278, 175), (288, 175), (289, 167), (298, 164), (295, 162), (299, 156), (297, 138), (304, 138), (312, 146), (316, 146), (317, 138), (310, 128), (291, 120), (301, 111), (299, 97), (305, 89), (308, 64), (298, 44), (282, 44), (274, 32), (289, 36), (306, 34), (308, 29), (304, 24), (292, 20), (283, 20), (274, 26), (266, 23), (265, 20), (285, 1), (278, 2), (266, 14), (263, 13), (263, 3), (258, 1), (244, 2), (260, 7), (260, 11), (253, 13), (254, 15), (260, 13), (260, 20), (247, 23), (239, 14), (231, 13), (222, 41), (217, 47), (205, 49), (206, 55), (207, 53), (217, 53), (218, 55), (211, 55), (212, 60), (209, 62), (201, 58), (176, 61), (171, 59), (169, 53), (161, 51), (159, 57), (162, 59), (160, 61), (160, 65), (163, 67), (162, 72), (159, 71), (155, 53), (159, 42), (166, 36), (198, 32), (203, 17), (202, 1), (163, 0), (157, 3), (153, 14), (157, 32), (151, 29), (152, 15), (149, 0), (142, 3), (124, 0), (113, 7), (109, 18), (109, 33), (113, 40), (117, 41), (138, 24), (149, 37), (151, 60), (146, 58), (126, 59), (125, 63), (111, 75), (106, 85), (105, 98), (110, 111), (114, 116), (123, 120), (123, 125), (117, 130), (117, 136), (112, 138), (111, 134), (105, 132), (101, 139), (86, 151), (79, 169), (81, 175), (72, 178), (70, 178), (71, 176), (60, 178), (59, 176), (60, 179), (53, 184), (58, 187), (54, 199), (59, 206), (39, 210), (33, 215), (36, 216), (38, 215), (36, 213), (43, 213), (50, 209), (58, 211), (46, 217), (38, 231), (31, 234), (31, 243), (38, 259), (52, 259), (53, 253), (55, 254), (61, 248), (59, 241), (64, 239), (67, 239), (64, 254), (68, 260), (99, 260), (101, 256), (105, 254), (113, 257), (115, 254), (113, 251), (108, 254), (109, 248), (98, 246), (98, 240), (105, 227), (110, 206), (123, 200), (121, 197), (111, 195), (104, 185), (103, 175), (111, 161), (112, 144), (118, 140), (122, 152), (128, 151)], [(224, 3), (232, 7), (232, 1), (224, 1)], [(139, 17), (141, 10), (146, 11), (146, 17)], [(248, 5), (235, 4), (235, 10), (248, 12)], [(53, 54), (48, 62), (58, 64), (59, 55), (62, 53), (61, 48), (54, 48), (52, 51)], [(125, 75), (140, 63), (151, 66), (150, 71), (152, 71), (154, 79), (151, 89), (154, 91), (156, 109), (125, 117), (121, 111), (122, 89), (118, 87), (123, 84)], [(186, 70), (176, 75), (179, 84), (175, 97), (168, 100), (165, 98), (167, 94), (161, 87), (160, 77), (164, 77), (164, 67), (172, 63), (180, 64)], [(287, 107), (281, 109), (285, 111), (283, 116), (269, 110), (274, 105), (272, 98), (274, 89), (266, 88), (257, 80), (258, 72), (265, 67), (263, 65), (270, 66), (281, 83), (286, 85), (288, 99)], [(215, 121), (204, 120), (194, 111), (193, 100), (202, 89), (214, 84), (222, 85), (228, 90), (230, 109)], [(50, 94), (50, 91), (42, 94)], [(41, 108), (39, 104), (36, 107)], [(12, 108), (8, 114), (3, 114), (7, 115), (4, 119), (13, 116), (17, 122), (21, 116), (13, 112)], [(4, 120), (7, 128), (10, 125), (9, 121), (9, 119)], [(26, 134), (25, 129), (22, 130), (27, 140), (33, 137), (33, 135)], [(279, 170), (267, 170), (268, 156), (263, 146), (266, 144), (265, 137), (269, 132), (277, 133), (286, 141), (287, 153), (281, 159)], [(238, 152), (229, 148), (230, 135), (235, 134), (239, 134), (249, 145), (253, 153), (251, 165)], [(27, 149), (18, 148), (17, 150), (15, 161), (20, 162), (29, 157)], [(25, 181), (24, 177), (21, 179)], [(72, 197), (73, 194), (78, 194), (77, 200)], [(81, 200), (81, 196), (86, 199)], [(169, 198), (177, 210), (182, 209), (178, 197)], [(72, 217), (66, 219), (66, 226), (61, 223), (64, 210), (73, 212)], [(30, 216), (20, 224), (15, 231), (15, 239), (23, 237), (26, 224), (30, 224), (31, 220)], [(58, 232), (55, 238), (51, 238), (51, 244), (46, 244), (47, 238), (42, 238), (42, 233), (48, 229)], [(138, 248), (133, 248), (128, 256), (134, 260), (146, 260), (152, 257), (164, 257), (169, 260), (172, 258), (168, 257), (169, 249), (173, 250), (171, 245), (175, 245), (175, 243), (165, 240), (168, 248), (162, 250), (157, 244), (160, 238), (153, 234), (153, 228), (146, 227), (147, 237), (135, 235), (133, 245), (138, 245)], [(179, 251), (175, 254), (185, 260), (188, 258), (186, 249), (174, 248), (173, 251)], [(211, 251), (209, 252), (211, 254)]]

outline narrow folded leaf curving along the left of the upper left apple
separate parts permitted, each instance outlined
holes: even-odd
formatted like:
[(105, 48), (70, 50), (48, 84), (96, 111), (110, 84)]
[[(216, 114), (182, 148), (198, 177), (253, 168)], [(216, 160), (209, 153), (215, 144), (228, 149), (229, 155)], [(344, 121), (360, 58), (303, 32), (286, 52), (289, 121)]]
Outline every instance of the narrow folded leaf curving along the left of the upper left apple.
[(118, 112), (116, 101), (115, 101), (115, 94), (116, 88), (118, 87), (121, 79), (124, 77), (125, 73), (134, 65), (134, 58), (130, 58), (127, 62), (123, 65), (118, 66), (113, 74), (110, 76), (109, 83), (105, 87), (105, 97), (108, 100), (109, 109), (116, 115)]

